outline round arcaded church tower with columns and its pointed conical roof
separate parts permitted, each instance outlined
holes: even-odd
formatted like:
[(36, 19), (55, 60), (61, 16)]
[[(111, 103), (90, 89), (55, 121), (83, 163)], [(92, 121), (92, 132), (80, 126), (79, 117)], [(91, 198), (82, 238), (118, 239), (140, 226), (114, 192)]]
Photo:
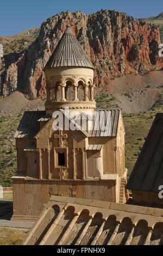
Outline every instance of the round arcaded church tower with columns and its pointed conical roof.
[(67, 27), (45, 66), (46, 113), (68, 107), (70, 111), (96, 108), (93, 97), (95, 67)]

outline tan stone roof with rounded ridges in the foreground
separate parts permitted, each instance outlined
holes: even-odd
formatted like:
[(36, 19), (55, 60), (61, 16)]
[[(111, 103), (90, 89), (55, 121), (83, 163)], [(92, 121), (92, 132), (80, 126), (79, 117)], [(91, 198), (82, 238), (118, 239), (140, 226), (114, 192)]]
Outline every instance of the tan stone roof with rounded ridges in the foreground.
[(162, 209), (52, 196), (23, 245), (163, 245)]

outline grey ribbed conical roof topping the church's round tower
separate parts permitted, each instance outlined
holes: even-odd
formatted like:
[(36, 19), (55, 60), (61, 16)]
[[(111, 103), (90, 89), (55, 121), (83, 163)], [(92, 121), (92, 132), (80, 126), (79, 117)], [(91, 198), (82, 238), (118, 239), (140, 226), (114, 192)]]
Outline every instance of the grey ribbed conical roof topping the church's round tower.
[(70, 27), (62, 35), (44, 70), (59, 66), (80, 66), (95, 69)]

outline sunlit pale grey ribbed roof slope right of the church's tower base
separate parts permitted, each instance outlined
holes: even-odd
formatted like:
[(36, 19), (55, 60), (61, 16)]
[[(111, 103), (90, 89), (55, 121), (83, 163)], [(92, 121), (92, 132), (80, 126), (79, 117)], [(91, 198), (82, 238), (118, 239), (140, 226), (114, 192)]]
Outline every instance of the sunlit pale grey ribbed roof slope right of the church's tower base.
[(90, 137), (117, 136), (120, 109), (96, 110), (95, 122)]

